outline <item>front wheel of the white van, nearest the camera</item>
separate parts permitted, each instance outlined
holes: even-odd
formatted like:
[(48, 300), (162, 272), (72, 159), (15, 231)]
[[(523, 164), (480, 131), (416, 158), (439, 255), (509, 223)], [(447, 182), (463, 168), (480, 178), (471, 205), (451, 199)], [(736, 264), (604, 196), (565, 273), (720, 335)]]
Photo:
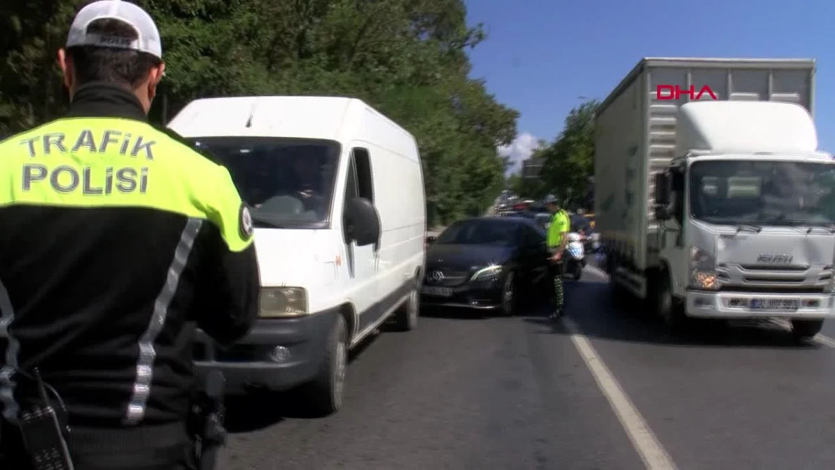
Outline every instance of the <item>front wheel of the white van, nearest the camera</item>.
[(313, 381), (301, 386), (300, 398), (311, 416), (328, 416), (342, 406), (345, 370), (348, 362), (348, 335), (345, 319), (337, 315), (328, 335), (325, 357)]

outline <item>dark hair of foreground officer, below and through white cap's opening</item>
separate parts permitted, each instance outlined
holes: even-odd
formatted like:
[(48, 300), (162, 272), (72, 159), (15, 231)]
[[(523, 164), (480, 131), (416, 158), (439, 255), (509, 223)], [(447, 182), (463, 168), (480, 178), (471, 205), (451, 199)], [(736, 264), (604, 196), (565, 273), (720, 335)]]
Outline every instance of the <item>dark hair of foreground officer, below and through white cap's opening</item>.
[[(113, 18), (94, 20), (88, 31), (131, 40), (138, 38), (134, 28)], [(151, 54), (128, 49), (73, 46), (67, 49), (67, 55), (73, 61), (78, 85), (103, 81), (136, 88), (160, 64)]]

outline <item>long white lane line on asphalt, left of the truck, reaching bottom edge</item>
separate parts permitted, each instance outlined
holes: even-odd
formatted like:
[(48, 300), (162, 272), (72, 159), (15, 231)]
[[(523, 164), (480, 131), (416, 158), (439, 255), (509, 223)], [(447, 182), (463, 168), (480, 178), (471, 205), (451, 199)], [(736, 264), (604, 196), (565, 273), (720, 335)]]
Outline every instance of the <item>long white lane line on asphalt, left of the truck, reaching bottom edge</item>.
[(640, 416), (640, 412), (615, 380), (615, 375), (612, 375), (606, 367), (588, 338), (580, 332), (577, 324), (574, 324), (571, 319), (565, 318), (563, 321), (569, 331), (571, 341), (574, 342), (574, 347), (577, 348), (580, 357), (591, 371), (591, 375), (594, 375), (597, 386), (609, 401), (615, 415), (618, 416), (618, 421), (624, 427), (646, 468), (648, 470), (676, 470), (676, 464), (673, 463), (670, 454), (655, 437), (655, 433), (652, 432), (644, 417)]

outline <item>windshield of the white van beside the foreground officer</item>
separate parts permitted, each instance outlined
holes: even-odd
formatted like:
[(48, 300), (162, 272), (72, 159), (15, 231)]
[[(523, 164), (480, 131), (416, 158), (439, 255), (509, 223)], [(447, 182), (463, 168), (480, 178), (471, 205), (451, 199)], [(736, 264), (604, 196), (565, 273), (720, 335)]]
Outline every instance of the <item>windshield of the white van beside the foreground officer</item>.
[(193, 143), (225, 166), (256, 227), (324, 228), (340, 145), (334, 140), (205, 137)]

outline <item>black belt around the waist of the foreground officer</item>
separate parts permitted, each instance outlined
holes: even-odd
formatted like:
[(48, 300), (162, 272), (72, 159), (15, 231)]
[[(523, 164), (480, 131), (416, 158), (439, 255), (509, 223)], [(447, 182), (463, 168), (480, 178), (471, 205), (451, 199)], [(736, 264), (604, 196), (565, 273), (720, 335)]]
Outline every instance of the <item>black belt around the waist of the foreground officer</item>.
[(67, 439), (73, 453), (131, 452), (190, 443), (185, 422), (125, 428), (73, 427)]

